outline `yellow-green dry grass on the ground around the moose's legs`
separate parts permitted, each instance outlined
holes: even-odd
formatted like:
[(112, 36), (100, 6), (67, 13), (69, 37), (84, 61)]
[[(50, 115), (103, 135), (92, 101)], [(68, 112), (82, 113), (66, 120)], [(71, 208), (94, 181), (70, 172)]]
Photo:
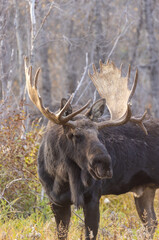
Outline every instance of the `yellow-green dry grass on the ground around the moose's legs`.
[[(136, 213), (133, 195), (131, 193), (121, 196), (109, 196), (109, 203), (105, 203), (104, 197), (100, 204), (100, 226), (98, 240), (143, 240), (144, 231)], [(159, 193), (155, 198), (155, 209), (159, 219)], [(76, 211), (82, 219), (82, 210)], [(42, 214), (32, 214), (27, 218), (8, 219), (0, 222), (1, 240), (52, 240), (56, 238), (55, 219), (48, 212), (48, 220), (44, 220)], [(72, 213), (69, 231), (69, 240), (84, 239), (84, 223)], [(159, 239), (159, 230), (156, 230), (155, 240)]]

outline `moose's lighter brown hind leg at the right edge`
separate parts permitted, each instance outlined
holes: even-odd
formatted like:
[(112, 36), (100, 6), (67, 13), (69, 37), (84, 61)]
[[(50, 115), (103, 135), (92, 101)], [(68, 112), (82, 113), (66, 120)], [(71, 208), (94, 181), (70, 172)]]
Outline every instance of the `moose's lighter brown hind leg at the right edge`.
[(154, 211), (155, 191), (155, 188), (146, 187), (140, 197), (134, 197), (137, 212), (145, 228), (148, 230), (150, 238), (153, 238), (157, 227), (156, 214)]

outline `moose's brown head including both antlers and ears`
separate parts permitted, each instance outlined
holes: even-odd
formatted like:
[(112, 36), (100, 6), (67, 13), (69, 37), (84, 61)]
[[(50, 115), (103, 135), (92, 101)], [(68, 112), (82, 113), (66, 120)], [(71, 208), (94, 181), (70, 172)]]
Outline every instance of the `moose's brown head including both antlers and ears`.
[[(61, 108), (54, 113), (44, 107), (37, 89), (40, 68), (36, 71), (33, 80), (32, 67), (28, 67), (25, 58), (26, 86), (29, 97), (40, 112), (50, 120), (49, 124), (62, 127), (62, 131), (61, 128), (59, 130), (62, 134), (58, 134), (58, 138), (64, 156), (74, 161), (84, 172), (87, 170), (94, 179), (111, 178), (113, 175), (111, 157), (98, 138), (100, 129), (132, 121), (146, 132), (143, 125), (146, 112), (141, 118), (132, 117), (130, 100), (137, 84), (137, 71), (133, 86), (129, 90), (130, 66), (126, 77), (122, 77), (121, 68), (118, 69), (113, 62), (109, 61), (106, 64), (100, 61), (100, 72), (94, 65), (93, 70), (94, 73), (89, 73), (89, 76), (102, 99), (96, 101), (90, 108), (88, 108), (90, 104), (88, 101), (84, 106), (72, 111), (72, 95), (68, 100), (62, 99)], [(109, 109), (110, 119), (100, 121), (105, 104)], [(84, 110), (85, 112), (82, 113)]]

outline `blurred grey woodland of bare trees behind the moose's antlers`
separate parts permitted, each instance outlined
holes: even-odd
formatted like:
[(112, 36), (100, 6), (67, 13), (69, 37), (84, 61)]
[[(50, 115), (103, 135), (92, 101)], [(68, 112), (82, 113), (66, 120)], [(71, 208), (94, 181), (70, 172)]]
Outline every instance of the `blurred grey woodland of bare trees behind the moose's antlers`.
[(34, 71), (41, 67), (46, 106), (75, 90), (75, 104), (98, 98), (87, 72), (109, 58), (123, 63), (123, 74), (130, 63), (132, 79), (138, 68), (133, 109), (159, 117), (158, 1), (2, 0), (0, 23), (1, 105), (12, 97), (17, 108), (27, 98), (24, 56)]

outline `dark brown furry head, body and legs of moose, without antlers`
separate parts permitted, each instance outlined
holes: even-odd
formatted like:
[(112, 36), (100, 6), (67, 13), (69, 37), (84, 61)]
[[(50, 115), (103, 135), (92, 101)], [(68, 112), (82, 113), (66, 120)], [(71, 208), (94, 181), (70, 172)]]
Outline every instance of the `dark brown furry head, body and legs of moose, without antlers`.
[(152, 237), (157, 224), (153, 200), (159, 186), (159, 122), (145, 123), (148, 135), (133, 123), (98, 131), (93, 120), (102, 115), (100, 110), (93, 106), (88, 117), (76, 117), (75, 129), (49, 123), (39, 150), (39, 177), (52, 202), (58, 237), (67, 238), (73, 203), (83, 207), (86, 239), (96, 239), (101, 195), (129, 191), (135, 193), (138, 214)]

